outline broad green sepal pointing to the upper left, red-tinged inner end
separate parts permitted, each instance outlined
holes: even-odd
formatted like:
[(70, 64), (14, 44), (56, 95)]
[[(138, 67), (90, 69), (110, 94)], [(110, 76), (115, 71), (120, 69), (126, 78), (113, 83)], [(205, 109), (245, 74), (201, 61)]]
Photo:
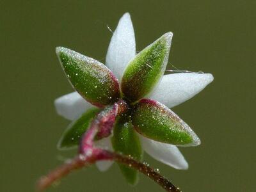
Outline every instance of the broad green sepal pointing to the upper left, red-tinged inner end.
[(56, 53), (68, 80), (84, 99), (99, 107), (118, 100), (119, 84), (108, 67), (65, 47), (57, 47)]

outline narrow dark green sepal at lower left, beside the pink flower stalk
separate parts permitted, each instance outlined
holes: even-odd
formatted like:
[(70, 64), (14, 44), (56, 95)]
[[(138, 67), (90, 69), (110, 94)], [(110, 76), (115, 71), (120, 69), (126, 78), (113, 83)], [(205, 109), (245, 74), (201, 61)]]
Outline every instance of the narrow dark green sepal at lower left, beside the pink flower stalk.
[(88, 109), (88, 111), (83, 113), (83, 115), (81, 115), (77, 120), (68, 125), (67, 129), (63, 132), (60, 140), (58, 141), (57, 148), (60, 150), (67, 150), (77, 147), (84, 132), (86, 132), (90, 123), (99, 112), (100, 109), (98, 108)]

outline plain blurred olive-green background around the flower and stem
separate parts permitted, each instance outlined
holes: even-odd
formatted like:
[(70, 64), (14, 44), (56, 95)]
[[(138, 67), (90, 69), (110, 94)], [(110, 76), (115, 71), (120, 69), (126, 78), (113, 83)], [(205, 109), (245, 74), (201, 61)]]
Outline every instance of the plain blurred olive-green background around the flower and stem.
[[(34, 191), (40, 175), (72, 157), (56, 142), (68, 121), (53, 100), (72, 92), (58, 45), (104, 63), (111, 29), (130, 12), (140, 51), (173, 31), (170, 63), (211, 72), (204, 92), (173, 108), (200, 136), (180, 148), (188, 171), (146, 161), (183, 191), (255, 191), (256, 1), (0, 1), (0, 191)], [(172, 68), (170, 65), (168, 68)], [(253, 120), (254, 119), (254, 120)], [(129, 186), (115, 165), (74, 172), (48, 191), (161, 191), (141, 175)]]

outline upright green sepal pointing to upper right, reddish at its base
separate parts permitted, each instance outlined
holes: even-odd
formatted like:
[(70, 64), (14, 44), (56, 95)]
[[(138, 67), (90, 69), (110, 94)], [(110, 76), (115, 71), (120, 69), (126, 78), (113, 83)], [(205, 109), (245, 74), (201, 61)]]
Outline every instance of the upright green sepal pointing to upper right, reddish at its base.
[(121, 88), (128, 100), (139, 100), (156, 86), (168, 63), (171, 41), (172, 33), (164, 34), (127, 65)]

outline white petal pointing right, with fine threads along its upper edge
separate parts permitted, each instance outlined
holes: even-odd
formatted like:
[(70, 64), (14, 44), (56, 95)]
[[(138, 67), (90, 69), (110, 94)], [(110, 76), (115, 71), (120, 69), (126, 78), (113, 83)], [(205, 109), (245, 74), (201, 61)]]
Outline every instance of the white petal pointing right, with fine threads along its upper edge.
[(173, 108), (201, 92), (213, 81), (212, 74), (179, 73), (165, 75), (150, 99)]

